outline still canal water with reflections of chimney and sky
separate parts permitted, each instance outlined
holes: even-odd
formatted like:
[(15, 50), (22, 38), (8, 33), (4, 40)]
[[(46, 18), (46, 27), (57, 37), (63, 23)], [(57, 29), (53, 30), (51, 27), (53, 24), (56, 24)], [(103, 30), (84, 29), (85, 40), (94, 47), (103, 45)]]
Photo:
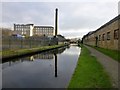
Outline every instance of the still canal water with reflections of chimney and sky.
[(2, 63), (3, 88), (66, 88), (80, 48), (69, 46)]

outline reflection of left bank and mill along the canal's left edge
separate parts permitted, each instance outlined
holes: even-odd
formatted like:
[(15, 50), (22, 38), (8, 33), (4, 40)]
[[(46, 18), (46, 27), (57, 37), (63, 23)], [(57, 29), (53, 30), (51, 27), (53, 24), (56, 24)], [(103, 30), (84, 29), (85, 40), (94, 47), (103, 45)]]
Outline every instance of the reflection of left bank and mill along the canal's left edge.
[(22, 58), (15, 58), (15, 59), (11, 59), (9, 61), (5, 60), (2, 61), (2, 69), (5, 69), (7, 67), (22, 63), (24, 61), (35, 61), (35, 60), (53, 60), (55, 57), (55, 61), (57, 62), (57, 54), (61, 54), (65, 51), (66, 47), (63, 48), (59, 48), (59, 49), (55, 49), (55, 50), (50, 50), (47, 52), (43, 52), (40, 54), (35, 54), (32, 56), (25, 56)]

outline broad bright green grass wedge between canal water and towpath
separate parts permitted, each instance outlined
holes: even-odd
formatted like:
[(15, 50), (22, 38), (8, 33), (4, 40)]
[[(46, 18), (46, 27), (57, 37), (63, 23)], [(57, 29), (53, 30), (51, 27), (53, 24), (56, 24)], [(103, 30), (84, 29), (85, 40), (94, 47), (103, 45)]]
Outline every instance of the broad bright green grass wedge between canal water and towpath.
[(111, 88), (110, 78), (97, 59), (82, 46), (77, 67), (68, 88)]

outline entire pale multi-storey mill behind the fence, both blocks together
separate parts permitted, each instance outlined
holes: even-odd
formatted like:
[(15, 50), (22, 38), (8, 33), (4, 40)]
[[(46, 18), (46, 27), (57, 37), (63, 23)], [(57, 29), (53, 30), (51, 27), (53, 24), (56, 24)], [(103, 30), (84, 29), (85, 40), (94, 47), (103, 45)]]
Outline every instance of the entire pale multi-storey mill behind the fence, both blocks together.
[(34, 24), (14, 24), (14, 34), (20, 34), (24, 36), (53, 36), (54, 27), (34, 26)]

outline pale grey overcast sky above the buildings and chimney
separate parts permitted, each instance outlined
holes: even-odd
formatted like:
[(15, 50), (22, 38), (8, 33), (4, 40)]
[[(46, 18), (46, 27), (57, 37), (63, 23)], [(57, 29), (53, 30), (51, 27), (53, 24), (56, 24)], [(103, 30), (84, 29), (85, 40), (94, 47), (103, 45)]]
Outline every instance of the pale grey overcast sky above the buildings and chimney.
[[(100, 0), (101, 1), (101, 0)], [(67, 38), (80, 37), (94, 31), (118, 15), (119, 0), (85, 0), (81, 2), (19, 2), (2, 1), (2, 27), (14, 23), (54, 26), (58, 8), (58, 33)]]

